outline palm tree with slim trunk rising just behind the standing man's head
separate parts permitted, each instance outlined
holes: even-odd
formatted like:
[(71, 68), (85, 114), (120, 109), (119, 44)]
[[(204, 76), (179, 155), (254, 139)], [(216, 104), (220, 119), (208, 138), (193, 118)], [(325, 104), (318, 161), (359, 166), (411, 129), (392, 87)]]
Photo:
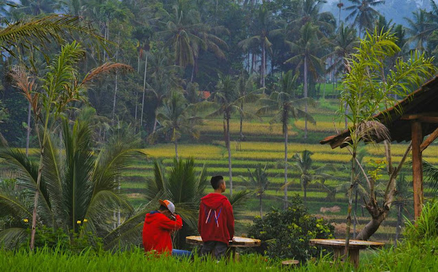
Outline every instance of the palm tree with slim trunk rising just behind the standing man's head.
[(236, 81), (231, 76), (219, 74), (219, 81), (208, 101), (201, 102), (197, 105), (199, 108), (213, 108), (215, 111), (206, 115), (209, 117), (221, 116), (223, 120), (223, 139), (228, 150), (228, 175), (230, 177), (230, 195), (232, 196), (232, 170), (231, 170), (231, 149), (230, 149), (230, 119), (233, 113), (251, 115), (241, 109), (241, 104), (255, 102), (259, 97), (254, 93), (247, 93), (240, 96)]

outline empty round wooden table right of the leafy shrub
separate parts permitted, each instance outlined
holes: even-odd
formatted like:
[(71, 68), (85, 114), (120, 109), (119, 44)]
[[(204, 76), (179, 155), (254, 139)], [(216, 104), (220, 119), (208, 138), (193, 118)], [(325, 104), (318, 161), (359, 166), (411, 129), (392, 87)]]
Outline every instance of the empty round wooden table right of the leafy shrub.
[[(311, 239), (310, 245), (318, 245), (321, 247), (329, 247), (334, 251), (334, 259), (343, 259), (345, 249), (345, 239)], [(349, 242), (349, 259), (355, 267), (359, 265), (360, 249), (375, 249), (383, 247), (383, 242), (370, 242), (362, 240), (350, 240)]]

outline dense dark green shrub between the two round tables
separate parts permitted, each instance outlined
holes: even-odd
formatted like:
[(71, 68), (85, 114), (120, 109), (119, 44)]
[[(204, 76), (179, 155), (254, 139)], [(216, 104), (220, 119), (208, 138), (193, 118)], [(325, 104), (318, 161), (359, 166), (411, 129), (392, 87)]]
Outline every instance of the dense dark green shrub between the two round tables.
[(298, 196), (287, 209), (272, 207), (263, 219), (254, 218), (248, 236), (262, 240), (256, 251), (270, 258), (294, 258), (305, 261), (318, 256), (316, 247), (309, 245), (314, 238), (333, 238), (333, 226), (325, 220), (311, 216)]

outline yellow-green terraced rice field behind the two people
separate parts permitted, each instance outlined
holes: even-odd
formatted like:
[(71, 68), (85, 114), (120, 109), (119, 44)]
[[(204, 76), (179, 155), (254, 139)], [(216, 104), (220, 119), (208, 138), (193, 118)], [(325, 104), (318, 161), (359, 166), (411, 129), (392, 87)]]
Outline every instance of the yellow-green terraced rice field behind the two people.
[[(309, 139), (303, 140), (304, 122), (298, 121), (289, 126), (288, 144), (289, 158), (295, 152), (303, 150), (310, 150), (313, 152), (311, 158), (314, 161), (314, 167), (322, 166), (323, 164), (331, 163), (337, 168), (336, 172), (331, 172), (332, 179), (328, 179), (325, 184), (331, 188), (337, 185), (347, 183), (349, 181), (349, 165), (350, 155), (346, 148), (336, 148), (332, 150), (330, 146), (322, 146), (318, 141), (323, 137), (327, 137), (335, 133), (333, 128), (333, 108), (336, 108), (336, 101), (332, 100), (329, 104), (325, 102), (325, 106), (320, 106), (316, 109), (310, 109), (310, 113), (314, 115), (317, 121), (316, 126), (309, 124)], [(257, 105), (250, 105), (247, 109), (255, 112)], [(257, 164), (261, 163), (263, 166), (268, 165), (270, 169), (270, 185), (263, 200), (263, 210), (267, 211), (270, 207), (281, 207), (283, 198), (283, 191), (280, 190), (284, 183), (284, 170), (282, 166), (278, 166), (278, 162), (284, 158), (284, 143), (281, 126), (279, 124), (270, 124), (271, 117), (265, 116), (261, 119), (245, 120), (243, 122), (243, 134), (246, 141), (237, 141), (239, 135), (239, 117), (234, 117), (231, 120), (232, 133), (232, 175), (234, 192), (245, 189), (252, 189), (252, 185), (243, 181), (242, 177), (248, 177), (248, 169), (253, 170)], [(336, 126), (342, 128), (343, 123), (338, 122)], [(201, 129), (201, 139), (191, 140), (183, 139), (183, 144), (179, 144), (180, 158), (193, 157), (197, 168), (206, 165), (210, 175), (221, 174), (228, 180), (228, 152), (223, 144), (223, 122), (220, 119), (206, 120)], [(305, 143), (302, 143), (305, 142)], [(190, 144), (188, 144), (190, 143)], [(407, 144), (393, 144), (392, 153), (393, 161), (397, 163), (406, 150)], [(384, 159), (384, 148), (380, 146), (366, 146), (366, 157), (364, 161), (371, 159)], [(149, 146), (140, 150), (146, 156), (135, 161), (130, 167), (129, 171), (124, 175), (122, 180), (122, 190), (127, 193), (133, 205), (140, 205), (144, 203), (144, 190), (147, 186), (147, 178), (153, 175), (152, 166), (154, 159), (160, 159), (164, 165), (170, 167), (175, 156), (175, 149), (173, 144), (157, 144)], [(438, 165), (438, 145), (432, 145), (424, 151), (424, 159)], [(409, 160), (409, 159), (408, 159)], [(405, 165), (404, 170), (407, 180), (411, 180), (411, 173), (409, 167)], [(8, 169), (2, 167), (0, 163), (0, 177), (8, 176), (13, 173), (8, 172)], [(298, 194), (303, 196), (303, 191), (300, 186), (300, 174), (294, 170), (289, 169), (287, 174), (288, 180), (292, 184), (288, 186), (288, 195), (293, 196)], [(426, 196), (430, 196), (428, 188), (425, 189)], [(335, 201), (327, 201), (327, 192), (322, 190), (318, 183), (314, 182), (308, 186), (307, 190), (307, 207), (312, 214), (327, 218), (336, 225), (336, 235), (342, 236), (344, 234), (344, 222), (347, 211), (347, 196), (345, 192), (337, 192)], [(364, 227), (369, 221), (369, 214), (364, 210), (362, 216), (362, 209), (358, 208), (358, 229)], [(340, 212), (337, 213), (322, 213), (321, 207), (332, 207), (338, 205)], [(411, 211), (405, 211), (406, 216), (410, 218)], [(252, 222), (254, 216), (259, 215), (259, 201), (252, 196), (246, 204), (246, 209), (237, 215), (239, 228), (244, 231), (244, 226)], [(395, 209), (390, 216), (384, 221), (384, 224), (377, 231), (374, 240), (390, 240), (395, 234), (396, 224)]]

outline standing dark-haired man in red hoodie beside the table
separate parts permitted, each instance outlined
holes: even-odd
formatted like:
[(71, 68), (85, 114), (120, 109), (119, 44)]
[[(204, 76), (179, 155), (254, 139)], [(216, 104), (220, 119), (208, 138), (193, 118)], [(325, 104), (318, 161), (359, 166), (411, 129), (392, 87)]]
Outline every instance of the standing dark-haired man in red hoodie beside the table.
[(199, 207), (198, 231), (202, 238), (201, 256), (213, 253), (215, 258), (225, 256), (228, 242), (234, 237), (234, 215), (232, 205), (222, 193), (226, 184), (222, 176), (210, 181), (215, 192), (201, 199)]

